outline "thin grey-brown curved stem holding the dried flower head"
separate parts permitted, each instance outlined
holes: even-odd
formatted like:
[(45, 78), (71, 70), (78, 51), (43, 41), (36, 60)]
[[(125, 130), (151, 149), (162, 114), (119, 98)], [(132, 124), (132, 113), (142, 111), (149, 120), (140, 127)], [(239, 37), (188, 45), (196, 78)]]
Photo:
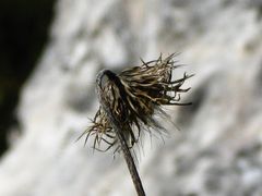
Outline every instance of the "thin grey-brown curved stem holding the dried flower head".
[(118, 121), (118, 119), (114, 115), (112, 111), (110, 110), (110, 107), (107, 105), (107, 100), (105, 100), (105, 97), (103, 96), (103, 87), (102, 87), (103, 77), (106, 76), (107, 73), (108, 73), (108, 70), (103, 70), (98, 73), (96, 77), (96, 90), (97, 90), (98, 99), (103, 110), (105, 111), (108, 120), (110, 121), (111, 127), (116, 132), (117, 138), (120, 143), (120, 147), (121, 147), (124, 160), (128, 164), (128, 169), (131, 174), (138, 196), (145, 196), (145, 192), (144, 192), (141, 179), (139, 176), (139, 172), (136, 170), (132, 155), (129, 150), (128, 144), (123, 136), (122, 125)]

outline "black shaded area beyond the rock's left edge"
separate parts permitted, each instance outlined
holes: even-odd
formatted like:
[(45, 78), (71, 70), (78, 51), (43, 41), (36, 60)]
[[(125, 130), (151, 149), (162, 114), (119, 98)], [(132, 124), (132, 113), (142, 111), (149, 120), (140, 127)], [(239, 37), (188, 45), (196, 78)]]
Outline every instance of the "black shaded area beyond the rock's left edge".
[(21, 87), (44, 49), (55, 0), (0, 1), (0, 156), (8, 131), (19, 124), (15, 108)]

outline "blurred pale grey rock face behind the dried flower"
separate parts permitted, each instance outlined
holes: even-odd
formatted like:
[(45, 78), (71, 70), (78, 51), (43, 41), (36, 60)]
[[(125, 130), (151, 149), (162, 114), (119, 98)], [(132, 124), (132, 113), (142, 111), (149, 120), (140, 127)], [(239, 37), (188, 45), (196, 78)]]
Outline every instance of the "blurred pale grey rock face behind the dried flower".
[(60, 0), (56, 10), (22, 91), (22, 135), (1, 159), (0, 195), (135, 195), (121, 156), (75, 139), (98, 107), (99, 70), (174, 51), (195, 73), (182, 97), (194, 105), (168, 108), (181, 132), (170, 126), (165, 144), (145, 136), (147, 195), (262, 195), (262, 1)]

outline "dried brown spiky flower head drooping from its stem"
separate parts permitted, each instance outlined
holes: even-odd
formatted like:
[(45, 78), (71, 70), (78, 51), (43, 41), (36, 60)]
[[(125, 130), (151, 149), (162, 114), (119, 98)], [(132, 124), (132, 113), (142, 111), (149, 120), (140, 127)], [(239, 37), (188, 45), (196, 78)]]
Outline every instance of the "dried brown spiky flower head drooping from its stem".
[[(182, 84), (193, 75), (187, 73), (179, 79), (172, 79), (172, 71), (176, 65), (174, 57), (166, 59), (162, 56), (150, 62), (142, 61), (141, 66), (133, 66), (115, 74), (109, 70), (99, 72), (102, 81), (98, 88), (106, 105), (109, 106), (114, 117), (121, 124), (126, 143), (130, 148), (140, 139), (142, 130), (150, 133), (154, 130), (164, 130), (155, 120), (155, 114), (165, 114), (160, 108), (164, 105), (187, 106), (181, 103), (180, 94), (190, 88), (181, 88)], [(81, 135), (86, 134), (85, 143), (90, 136), (94, 136), (93, 147), (98, 150), (108, 150), (118, 146), (118, 139), (105, 111), (99, 107), (92, 125)], [(102, 142), (108, 146), (100, 149)]]

